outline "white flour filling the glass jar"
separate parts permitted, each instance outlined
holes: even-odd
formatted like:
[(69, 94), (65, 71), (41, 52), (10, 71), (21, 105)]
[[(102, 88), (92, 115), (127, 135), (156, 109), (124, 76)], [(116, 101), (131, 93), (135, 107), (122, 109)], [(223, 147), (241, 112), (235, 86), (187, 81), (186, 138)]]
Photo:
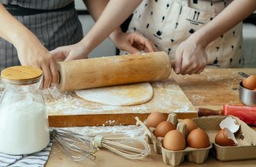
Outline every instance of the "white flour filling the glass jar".
[(22, 100), (0, 107), (0, 152), (34, 153), (49, 143), (48, 120), (39, 102)]

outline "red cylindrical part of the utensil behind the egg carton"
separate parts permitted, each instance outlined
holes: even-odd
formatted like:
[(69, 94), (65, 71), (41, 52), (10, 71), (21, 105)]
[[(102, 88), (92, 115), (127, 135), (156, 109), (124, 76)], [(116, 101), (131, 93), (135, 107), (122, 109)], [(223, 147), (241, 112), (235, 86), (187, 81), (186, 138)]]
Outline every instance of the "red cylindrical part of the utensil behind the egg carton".
[(233, 115), (246, 124), (256, 125), (256, 107), (223, 105), (223, 115)]

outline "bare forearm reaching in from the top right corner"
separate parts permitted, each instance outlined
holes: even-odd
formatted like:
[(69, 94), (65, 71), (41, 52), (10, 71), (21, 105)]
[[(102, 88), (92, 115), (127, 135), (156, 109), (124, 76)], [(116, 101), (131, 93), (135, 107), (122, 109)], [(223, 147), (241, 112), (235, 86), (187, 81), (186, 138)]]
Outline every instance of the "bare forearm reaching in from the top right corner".
[(217, 39), (248, 17), (255, 9), (255, 0), (234, 0), (210, 23), (197, 30), (192, 36), (196, 40), (197, 45), (206, 47), (214, 39)]

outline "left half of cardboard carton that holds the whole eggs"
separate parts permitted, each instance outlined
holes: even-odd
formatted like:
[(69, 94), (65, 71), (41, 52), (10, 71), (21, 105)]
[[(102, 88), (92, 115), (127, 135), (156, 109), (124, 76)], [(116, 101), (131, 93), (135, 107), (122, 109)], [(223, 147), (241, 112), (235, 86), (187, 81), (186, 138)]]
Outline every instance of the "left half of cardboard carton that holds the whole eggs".
[[(176, 114), (170, 113), (168, 115), (167, 121), (170, 121), (172, 124), (174, 124), (176, 129), (180, 131), (181, 134), (184, 134), (185, 137), (187, 137), (187, 125), (183, 121), (178, 120)], [(186, 147), (181, 151), (166, 150), (162, 146), (163, 137), (155, 137), (155, 128), (147, 128), (146, 125), (139, 120), (139, 118), (136, 118), (136, 124), (141, 125), (142, 128), (144, 128), (147, 134), (147, 140), (149, 143), (153, 144), (155, 153), (162, 154), (163, 161), (168, 165), (180, 165), (181, 162), (184, 162), (185, 156), (187, 156), (187, 160), (189, 162), (201, 164), (207, 159), (209, 150), (213, 147), (210, 143), (210, 147), (203, 149)]]

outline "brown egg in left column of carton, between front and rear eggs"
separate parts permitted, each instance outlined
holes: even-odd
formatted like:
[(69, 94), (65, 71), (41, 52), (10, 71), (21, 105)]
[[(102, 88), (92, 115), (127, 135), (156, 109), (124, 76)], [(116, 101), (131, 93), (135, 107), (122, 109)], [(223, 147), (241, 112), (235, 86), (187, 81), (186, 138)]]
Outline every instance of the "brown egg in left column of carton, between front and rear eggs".
[(167, 134), (168, 131), (172, 131), (174, 129), (176, 129), (176, 127), (170, 121), (162, 121), (155, 128), (155, 136), (165, 137), (165, 134)]

